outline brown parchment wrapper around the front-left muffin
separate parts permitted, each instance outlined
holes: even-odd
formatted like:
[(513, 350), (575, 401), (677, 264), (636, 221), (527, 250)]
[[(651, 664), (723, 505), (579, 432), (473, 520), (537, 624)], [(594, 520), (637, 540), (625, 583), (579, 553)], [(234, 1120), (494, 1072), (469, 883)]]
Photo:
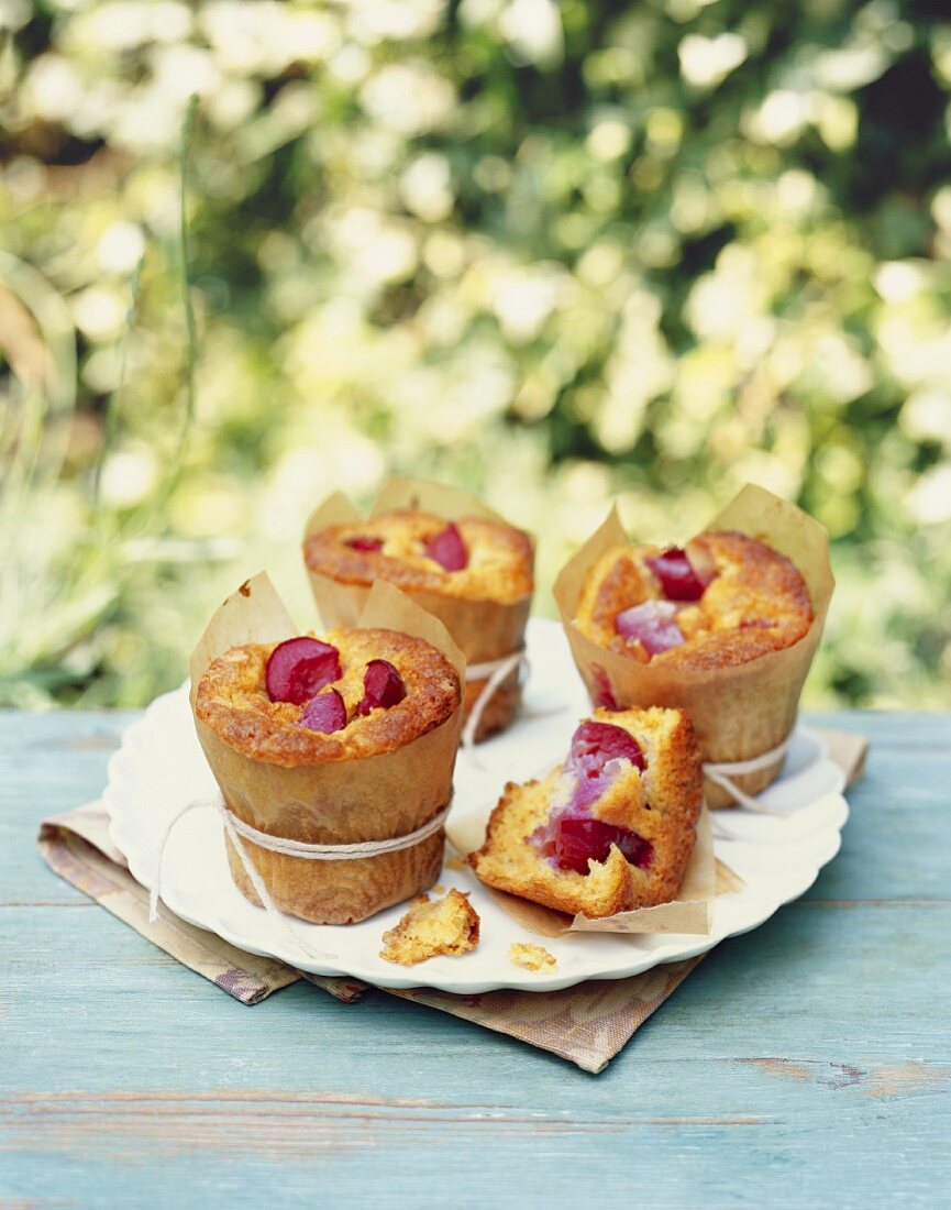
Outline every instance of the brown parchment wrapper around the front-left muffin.
[[(445, 627), (393, 584), (376, 583), (356, 618), (425, 639), (453, 664), (460, 681), (466, 662)], [(208, 623), (191, 657), (191, 704), (204, 669), (242, 643), (276, 643), (300, 630), (266, 575), (246, 581)], [(350, 845), (404, 836), (432, 819), (453, 794), (462, 710), (396, 751), (359, 760), (286, 768), (254, 760), (225, 744), (200, 719), (195, 727), (230, 811), (272, 836), (307, 843)], [(226, 840), (231, 876), (259, 903), (240, 857)], [(432, 886), (442, 868), (443, 831), (410, 848), (379, 857), (321, 862), (288, 857), (244, 841), (275, 905), (318, 924), (364, 920)]]

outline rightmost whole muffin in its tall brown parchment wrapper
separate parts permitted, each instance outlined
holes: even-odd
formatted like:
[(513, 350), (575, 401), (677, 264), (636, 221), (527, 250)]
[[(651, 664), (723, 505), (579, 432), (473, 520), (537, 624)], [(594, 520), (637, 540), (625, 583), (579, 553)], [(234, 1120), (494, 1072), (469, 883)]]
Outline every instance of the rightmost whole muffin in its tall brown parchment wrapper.
[(592, 701), (686, 710), (724, 807), (779, 776), (832, 584), (822, 526), (749, 485), (684, 547), (632, 546), (612, 512), (555, 599)]

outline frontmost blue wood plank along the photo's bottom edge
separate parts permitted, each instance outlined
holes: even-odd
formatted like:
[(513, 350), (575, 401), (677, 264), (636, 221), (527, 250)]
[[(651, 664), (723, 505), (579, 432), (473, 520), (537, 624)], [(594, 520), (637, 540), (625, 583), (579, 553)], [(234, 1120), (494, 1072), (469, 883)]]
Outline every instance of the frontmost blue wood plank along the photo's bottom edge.
[[(83, 1206), (266, 1197), (277, 1205), (574, 1208), (584, 1204), (578, 1189), (601, 1185), (645, 1200), (647, 1177), (647, 1204), (659, 1208), (940, 1204), (947, 1172), (935, 1140), (949, 1125), (940, 1096), (899, 1105), (843, 1084), (820, 1100), (794, 1081), (750, 1091), (730, 1068), (708, 1066), (703, 1074), (708, 1084), (721, 1081), (739, 1108), (619, 1111), (589, 1124), (567, 1091), (559, 1104), (569, 1107), (543, 1114), (480, 1101), (288, 1102), (265, 1093), (250, 1102), (184, 1094), (169, 1104), (99, 1095), (85, 1104), (5, 1104), (0, 1127), (22, 1148), (17, 1192), (65, 1194)], [(615, 1097), (640, 1101), (645, 1084)]]

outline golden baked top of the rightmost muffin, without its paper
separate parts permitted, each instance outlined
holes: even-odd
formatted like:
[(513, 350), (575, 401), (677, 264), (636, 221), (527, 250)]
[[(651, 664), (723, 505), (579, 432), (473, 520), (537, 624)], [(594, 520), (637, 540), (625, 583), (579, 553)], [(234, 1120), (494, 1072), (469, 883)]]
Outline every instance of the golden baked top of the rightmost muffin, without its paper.
[(771, 546), (732, 530), (684, 549), (613, 547), (590, 569), (576, 626), (641, 663), (711, 670), (797, 643), (812, 624), (806, 581)]

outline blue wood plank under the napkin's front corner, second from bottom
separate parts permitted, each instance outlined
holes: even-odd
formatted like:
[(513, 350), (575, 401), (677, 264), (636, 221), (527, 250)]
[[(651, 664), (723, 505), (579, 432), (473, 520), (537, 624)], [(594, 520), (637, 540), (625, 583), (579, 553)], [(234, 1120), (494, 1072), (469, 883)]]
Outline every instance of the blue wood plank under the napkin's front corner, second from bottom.
[[(924, 912), (917, 928), (907, 909), (893, 905), (783, 912), (720, 946), (611, 1072), (647, 1059), (667, 1065), (710, 1055), (858, 1067), (876, 1056), (888, 1065), (921, 1058), (951, 1064), (949, 1014), (934, 1003), (951, 976), (951, 905)], [(381, 1068), (380, 1060), (416, 1054), (414, 1095), (438, 1095), (446, 1058), (478, 1055), (486, 1088), (526, 1104), (521, 1074), (509, 1068), (515, 1044), (466, 1022), (384, 995), (344, 1006), (304, 985), (272, 997), (264, 1012), (247, 1009), (106, 914), (82, 914), (81, 928), (75, 920), (63, 909), (0, 912), (0, 950), (10, 956), (0, 1031), (22, 1039), (5, 1059), (8, 1087), (121, 1087), (126, 1073), (117, 1079), (116, 1067), (102, 1062), (121, 1053), (134, 1056), (137, 1087), (260, 1087), (266, 1072), (267, 1087), (305, 1091), (338, 1087), (345, 1049), (351, 1088), (405, 1093), (405, 1072)], [(169, 1053), (184, 1066), (169, 1067)], [(250, 1067), (231, 1062), (243, 1054), (257, 1056)], [(557, 1101), (564, 1065), (551, 1060), (532, 1070), (540, 1104)], [(201, 1077), (183, 1078), (185, 1071)], [(681, 1094), (674, 1089), (678, 1102)]]

